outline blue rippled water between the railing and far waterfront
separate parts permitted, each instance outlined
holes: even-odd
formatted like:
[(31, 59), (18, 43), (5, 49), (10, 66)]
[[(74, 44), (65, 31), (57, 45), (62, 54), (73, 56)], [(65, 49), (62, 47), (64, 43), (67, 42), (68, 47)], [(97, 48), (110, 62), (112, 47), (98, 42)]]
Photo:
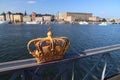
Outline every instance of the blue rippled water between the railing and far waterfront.
[(54, 36), (66, 36), (71, 41), (67, 57), (86, 49), (120, 43), (120, 25), (0, 25), (0, 62), (31, 58), (26, 45), (31, 39), (46, 37), (49, 27)]

